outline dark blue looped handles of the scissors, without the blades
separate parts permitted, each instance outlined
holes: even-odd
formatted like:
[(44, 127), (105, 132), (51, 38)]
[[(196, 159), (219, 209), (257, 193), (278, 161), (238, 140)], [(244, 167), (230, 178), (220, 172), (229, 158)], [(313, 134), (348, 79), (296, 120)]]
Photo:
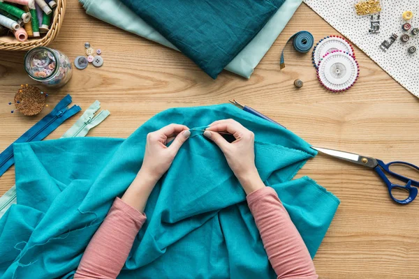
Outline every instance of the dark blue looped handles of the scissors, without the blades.
[[(381, 177), (381, 179), (383, 179), (385, 184), (387, 185), (388, 194), (390, 195), (392, 200), (394, 200), (398, 204), (409, 204), (409, 203), (411, 203), (413, 201), (413, 199), (415, 199), (416, 196), (418, 195), (418, 189), (415, 188), (415, 187), (412, 187), (411, 184), (413, 184), (413, 186), (419, 186), (419, 182), (415, 181), (413, 179), (409, 179), (406, 176), (396, 174), (395, 172), (390, 171), (389, 167), (392, 164), (401, 164), (401, 165), (408, 165), (409, 167), (413, 167), (413, 168), (417, 169), (418, 171), (419, 171), (419, 167), (416, 167), (416, 165), (413, 165), (411, 163), (406, 163), (406, 162), (402, 162), (402, 161), (395, 161), (395, 162), (390, 162), (388, 164), (385, 164), (385, 163), (383, 163), (382, 160), (377, 160), (377, 163), (378, 163), (378, 165), (376, 167), (374, 167), (374, 169), (378, 173), (378, 175)], [(394, 176), (397, 179), (400, 179), (401, 181), (405, 181), (406, 186), (401, 186), (401, 185), (398, 185), (398, 184), (391, 183), (391, 181), (387, 178), (387, 176), (385, 176), (385, 173), (383, 172), (383, 170), (385, 172), (388, 172), (388, 174), (390, 174), (391, 176)], [(409, 192), (409, 197), (407, 197), (406, 199), (396, 199), (391, 193), (391, 190), (393, 188), (398, 188), (398, 189), (408, 191)]]

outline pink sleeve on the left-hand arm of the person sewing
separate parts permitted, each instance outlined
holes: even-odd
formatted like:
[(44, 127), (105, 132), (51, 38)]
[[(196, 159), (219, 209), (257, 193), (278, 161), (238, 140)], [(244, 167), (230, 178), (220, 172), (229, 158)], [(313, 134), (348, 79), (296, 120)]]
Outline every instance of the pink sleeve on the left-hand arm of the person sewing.
[(75, 279), (117, 278), (146, 217), (118, 197), (84, 251)]

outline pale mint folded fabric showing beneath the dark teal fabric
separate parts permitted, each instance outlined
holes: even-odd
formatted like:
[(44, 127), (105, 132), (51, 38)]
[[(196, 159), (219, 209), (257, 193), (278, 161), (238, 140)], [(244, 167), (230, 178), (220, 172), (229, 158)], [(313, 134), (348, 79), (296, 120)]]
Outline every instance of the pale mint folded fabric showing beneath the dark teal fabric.
[[(159, 32), (150, 27), (138, 15), (133, 13), (119, 0), (79, 0), (83, 4), (88, 15), (108, 22), (116, 27), (128, 32), (135, 33), (138, 36), (153, 40), (161, 45), (166, 45), (174, 50), (177, 48), (172, 45)], [(271, 19), (265, 24), (262, 30), (244, 47), (244, 49), (235, 56), (226, 66), (226, 70), (249, 78), (253, 69), (258, 66), (260, 60), (265, 56), (279, 33), (284, 29), (291, 19), (295, 10), (300, 6), (302, 0), (286, 0), (277, 10)]]

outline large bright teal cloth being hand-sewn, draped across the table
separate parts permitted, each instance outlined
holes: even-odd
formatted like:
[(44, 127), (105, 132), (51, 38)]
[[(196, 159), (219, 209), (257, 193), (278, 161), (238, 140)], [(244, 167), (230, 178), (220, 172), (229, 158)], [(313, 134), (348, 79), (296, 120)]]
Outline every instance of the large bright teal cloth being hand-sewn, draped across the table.
[(339, 199), (307, 177), (290, 180), (316, 151), (290, 130), (226, 104), (166, 110), (126, 140), (15, 144), (18, 204), (0, 220), (0, 277), (71, 278), (140, 169), (147, 133), (174, 122), (198, 128), (150, 195), (147, 222), (119, 278), (276, 278), (240, 183), (203, 137), (202, 127), (226, 118), (255, 133), (258, 172), (314, 257)]

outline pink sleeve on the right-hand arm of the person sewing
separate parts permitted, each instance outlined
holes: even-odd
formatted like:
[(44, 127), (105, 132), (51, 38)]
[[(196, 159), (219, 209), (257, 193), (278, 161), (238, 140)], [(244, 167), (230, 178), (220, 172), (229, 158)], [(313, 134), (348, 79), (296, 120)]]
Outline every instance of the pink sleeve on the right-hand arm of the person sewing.
[(309, 251), (274, 189), (250, 193), (247, 203), (278, 279), (317, 279)]

